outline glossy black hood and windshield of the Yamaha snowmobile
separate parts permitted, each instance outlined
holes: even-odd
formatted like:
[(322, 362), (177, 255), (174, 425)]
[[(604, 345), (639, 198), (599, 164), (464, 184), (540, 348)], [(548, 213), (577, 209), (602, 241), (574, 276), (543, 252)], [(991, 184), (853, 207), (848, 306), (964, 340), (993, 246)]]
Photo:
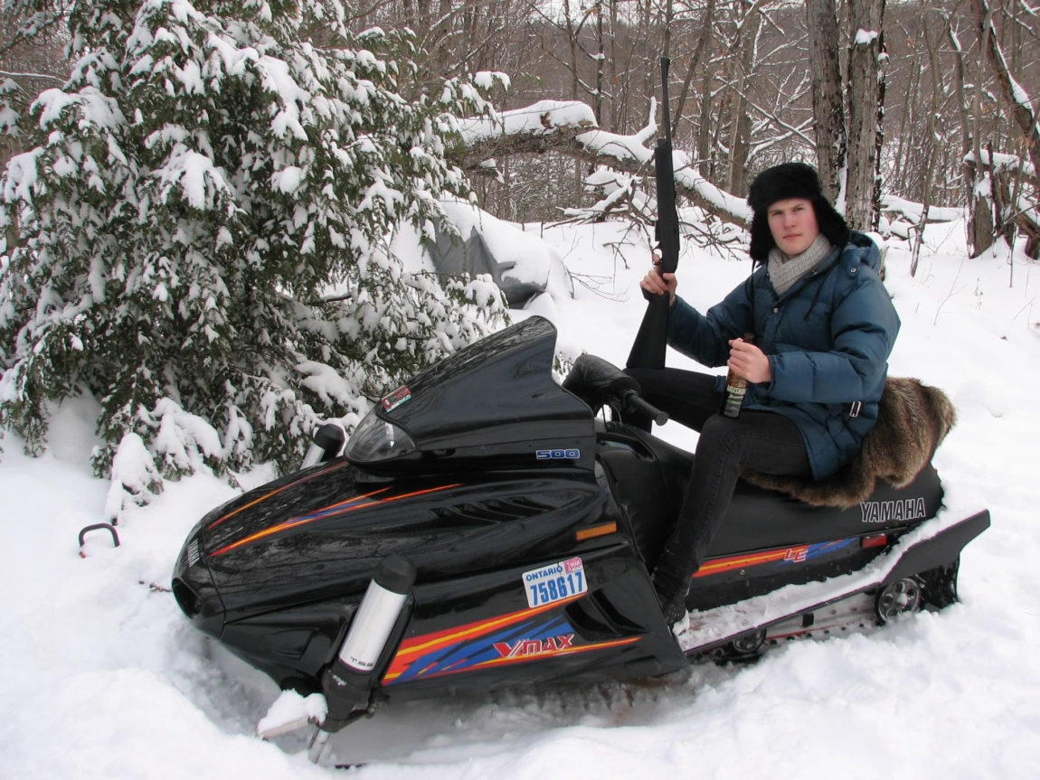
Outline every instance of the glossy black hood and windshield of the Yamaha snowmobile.
[[(415, 440), (411, 456), (374, 465), (340, 457), (211, 511), (178, 566), (191, 592), (185, 612), (233, 620), (360, 592), (390, 551), (422, 557), (426, 573), (473, 566), (471, 556), (499, 543), (461, 553), (457, 534), (472, 537), (471, 526), (523, 550), (596, 515), (592, 412), (553, 381), (554, 344), (552, 324), (532, 317), (388, 395), (376, 414)], [(501, 522), (503, 497), (515, 522)], [(446, 521), (444, 508), (454, 504), (467, 513)], [(525, 522), (536, 516), (556, 519)]]

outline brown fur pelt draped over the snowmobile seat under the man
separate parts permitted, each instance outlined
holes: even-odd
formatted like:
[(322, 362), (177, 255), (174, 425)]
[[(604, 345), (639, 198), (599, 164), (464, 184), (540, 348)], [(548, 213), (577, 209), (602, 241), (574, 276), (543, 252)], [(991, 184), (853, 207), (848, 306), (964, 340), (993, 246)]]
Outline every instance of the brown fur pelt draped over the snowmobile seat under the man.
[(878, 408), (878, 422), (852, 462), (813, 482), (742, 471), (752, 485), (787, 493), (814, 506), (854, 506), (874, 492), (877, 480), (898, 488), (909, 484), (932, 460), (956, 420), (953, 401), (918, 380), (889, 376)]

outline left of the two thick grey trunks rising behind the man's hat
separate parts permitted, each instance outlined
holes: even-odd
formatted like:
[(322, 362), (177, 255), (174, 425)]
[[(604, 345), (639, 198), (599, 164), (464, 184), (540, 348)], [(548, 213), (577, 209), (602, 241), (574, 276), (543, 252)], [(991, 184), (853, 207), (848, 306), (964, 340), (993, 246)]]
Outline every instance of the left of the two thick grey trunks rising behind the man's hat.
[(824, 193), (835, 200), (841, 189), (840, 176), (846, 164), (846, 130), (834, 0), (806, 0), (805, 15), (809, 30), (816, 164)]

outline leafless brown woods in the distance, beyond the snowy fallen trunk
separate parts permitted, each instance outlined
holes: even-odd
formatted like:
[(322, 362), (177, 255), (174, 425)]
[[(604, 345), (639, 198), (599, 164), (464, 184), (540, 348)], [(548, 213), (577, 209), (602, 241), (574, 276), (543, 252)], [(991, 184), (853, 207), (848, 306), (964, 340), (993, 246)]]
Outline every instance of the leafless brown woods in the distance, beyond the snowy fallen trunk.
[[(26, 17), (19, 5), (4, 3), (0, 75), (17, 80), (12, 102), (24, 110), (69, 76), (72, 3), (44, 3), (50, 12), (28, 41), (18, 34)], [(414, 31), (426, 82), (504, 73), (510, 87), (494, 95), (498, 110), (581, 101), (598, 127), (621, 135), (646, 127), (660, 94), (659, 57), (670, 57), (673, 144), (701, 176), (738, 197), (754, 173), (791, 159), (818, 164), (830, 194), (843, 197), (842, 168), (862, 146), (877, 155), (865, 215), (852, 218), (859, 228), (878, 227), (883, 203), (898, 210), (896, 198), (969, 207), (982, 192), (992, 206), (995, 170), (997, 213), (980, 204), (979, 218), (993, 235), (1038, 230), (1035, 213), (1015, 208), (1036, 185), (1040, 142), (1040, 11), (1026, 0), (373, 0), (345, 10), (355, 31)], [(328, 37), (320, 26), (304, 32)], [(1032, 126), (1016, 113), (1023, 98)], [(857, 122), (866, 129), (857, 131)], [(482, 208), (528, 223), (594, 203), (587, 178), (603, 160), (566, 135), (467, 150)], [(3, 140), (0, 161), (20, 148), (14, 133)], [(491, 156), (497, 164), (483, 164)], [(633, 166), (647, 173), (645, 162)], [(977, 252), (988, 245), (982, 234), (972, 238)]]

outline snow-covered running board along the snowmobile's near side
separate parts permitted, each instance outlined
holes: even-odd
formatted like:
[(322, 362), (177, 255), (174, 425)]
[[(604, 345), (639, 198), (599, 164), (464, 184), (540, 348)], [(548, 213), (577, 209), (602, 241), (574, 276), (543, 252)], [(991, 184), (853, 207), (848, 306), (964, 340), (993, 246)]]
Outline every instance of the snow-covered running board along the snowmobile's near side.
[(948, 512), (945, 510), (907, 534), (890, 554), (859, 571), (823, 581), (791, 584), (735, 604), (687, 614), (673, 629), (676, 641), (690, 657), (707, 654), (735, 639), (947, 565), (990, 523), (989, 511), (982, 510), (959, 522), (944, 524), (941, 519)]

